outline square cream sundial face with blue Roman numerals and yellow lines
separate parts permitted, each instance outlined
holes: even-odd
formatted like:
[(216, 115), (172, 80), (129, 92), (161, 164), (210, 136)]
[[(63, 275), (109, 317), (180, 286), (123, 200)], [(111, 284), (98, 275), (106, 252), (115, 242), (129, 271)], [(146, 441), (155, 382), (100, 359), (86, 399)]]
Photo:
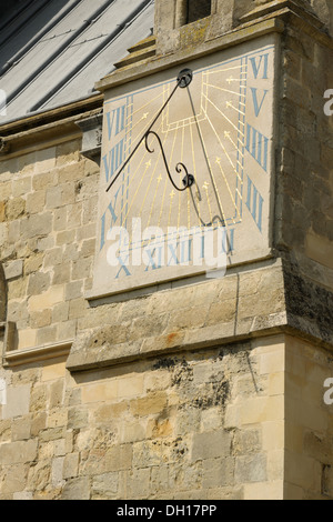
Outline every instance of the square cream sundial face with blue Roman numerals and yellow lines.
[[(178, 73), (107, 96), (94, 295), (211, 272), (221, 269), (222, 255), (228, 265), (268, 255), (274, 46), (248, 46), (248, 52), (240, 47), (186, 67), (192, 83), (175, 92), (154, 123), (160, 142), (150, 134), (148, 147), (143, 141), (128, 164)], [(175, 190), (165, 161), (179, 188), (184, 187), (179, 163), (194, 184)], [(205, 244), (213, 241), (215, 265), (205, 262), (204, 231), (211, 233)]]

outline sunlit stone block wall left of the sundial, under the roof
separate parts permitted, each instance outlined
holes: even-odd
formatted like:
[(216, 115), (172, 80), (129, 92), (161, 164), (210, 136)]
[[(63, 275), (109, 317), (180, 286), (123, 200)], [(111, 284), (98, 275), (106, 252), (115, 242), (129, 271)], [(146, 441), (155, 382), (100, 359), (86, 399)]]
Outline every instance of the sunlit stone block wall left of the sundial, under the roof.
[(80, 141), (1, 163), (1, 259), (12, 348), (73, 339), (91, 284), (99, 168)]

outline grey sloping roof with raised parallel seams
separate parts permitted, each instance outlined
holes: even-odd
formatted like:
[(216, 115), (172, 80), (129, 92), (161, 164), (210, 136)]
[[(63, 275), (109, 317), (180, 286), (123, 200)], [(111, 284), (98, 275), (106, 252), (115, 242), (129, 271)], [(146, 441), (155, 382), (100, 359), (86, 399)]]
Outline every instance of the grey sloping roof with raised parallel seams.
[[(91, 97), (151, 36), (153, 0), (11, 0), (0, 18), (0, 124)], [(0, 107), (1, 112), (1, 107)]]

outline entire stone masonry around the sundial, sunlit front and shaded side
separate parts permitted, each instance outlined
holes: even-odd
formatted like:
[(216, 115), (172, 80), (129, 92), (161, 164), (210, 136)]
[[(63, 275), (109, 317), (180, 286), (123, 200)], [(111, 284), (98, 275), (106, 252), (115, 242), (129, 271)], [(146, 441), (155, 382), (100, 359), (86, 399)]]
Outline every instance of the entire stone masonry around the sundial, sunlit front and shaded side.
[(60, 131), (2, 158), (0, 499), (333, 498), (332, 40), (306, 20), (279, 19), (272, 259), (89, 302), (98, 165)]

